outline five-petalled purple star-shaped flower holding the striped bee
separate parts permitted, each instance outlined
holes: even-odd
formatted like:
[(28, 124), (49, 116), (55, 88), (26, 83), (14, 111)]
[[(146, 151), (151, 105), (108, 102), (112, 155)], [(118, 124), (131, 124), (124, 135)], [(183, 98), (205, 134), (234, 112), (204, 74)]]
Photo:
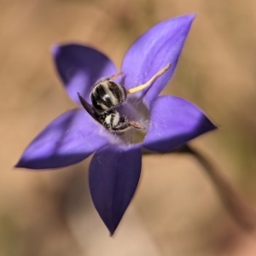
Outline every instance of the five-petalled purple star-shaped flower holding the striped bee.
[[(82, 108), (53, 120), (26, 148), (17, 167), (48, 169), (69, 166), (94, 154), (90, 162), (90, 194), (113, 234), (137, 188), (142, 151), (167, 152), (216, 127), (195, 105), (177, 96), (159, 96), (177, 66), (195, 15), (165, 20), (131, 45), (118, 78), (126, 90), (146, 83), (168, 63), (171, 67), (148, 88), (127, 97), (119, 107), (145, 130), (107, 131)], [(67, 94), (90, 102), (92, 84), (118, 73), (113, 62), (96, 49), (79, 44), (56, 46), (55, 65)], [(90, 112), (90, 111), (89, 111)]]

